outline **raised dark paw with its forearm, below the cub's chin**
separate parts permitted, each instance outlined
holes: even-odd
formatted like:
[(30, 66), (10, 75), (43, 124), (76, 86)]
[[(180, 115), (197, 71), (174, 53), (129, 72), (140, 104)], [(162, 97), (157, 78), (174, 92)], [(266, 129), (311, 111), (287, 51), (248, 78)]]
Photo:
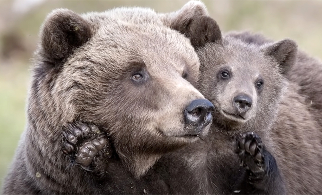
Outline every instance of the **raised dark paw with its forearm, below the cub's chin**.
[(236, 188), (238, 193), (286, 194), (285, 183), (276, 160), (266, 150), (261, 138), (253, 132), (240, 134), (235, 138), (236, 153), (241, 160), (241, 166), (246, 168), (245, 179)]

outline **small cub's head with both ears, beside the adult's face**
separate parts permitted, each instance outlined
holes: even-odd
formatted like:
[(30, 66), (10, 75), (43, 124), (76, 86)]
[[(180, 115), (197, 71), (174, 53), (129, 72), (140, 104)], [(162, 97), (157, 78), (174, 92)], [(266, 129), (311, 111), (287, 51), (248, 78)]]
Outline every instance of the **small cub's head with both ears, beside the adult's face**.
[(215, 105), (214, 124), (227, 134), (268, 129), (288, 83), (285, 75), (296, 60), (295, 41), (260, 45), (223, 37), (207, 16), (185, 23), (177, 30), (191, 39), (200, 58), (198, 89)]

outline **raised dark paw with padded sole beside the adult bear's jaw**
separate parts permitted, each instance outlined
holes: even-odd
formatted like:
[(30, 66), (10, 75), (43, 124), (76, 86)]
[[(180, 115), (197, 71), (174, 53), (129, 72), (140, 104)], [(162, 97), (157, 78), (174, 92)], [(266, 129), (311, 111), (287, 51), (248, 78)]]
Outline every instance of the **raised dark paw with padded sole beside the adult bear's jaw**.
[(109, 145), (105, 135), (91, 123), (68, 123), (62, 128), (62, 133), (62, 152), (83, 167), (89, 166), (94, 157)]

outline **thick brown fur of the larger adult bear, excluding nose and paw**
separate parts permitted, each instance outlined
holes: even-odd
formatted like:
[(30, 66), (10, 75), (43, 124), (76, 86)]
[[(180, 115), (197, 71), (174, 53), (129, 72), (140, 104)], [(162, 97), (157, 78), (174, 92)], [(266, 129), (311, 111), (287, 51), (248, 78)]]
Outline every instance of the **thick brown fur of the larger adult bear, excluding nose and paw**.
[[(143, 8), (48, 15), (32, 68), (28, 122), (3, 194), (145, 193), (149, 179), (139, 177), (162, 156), (200, 140), (186, 136), (183, 117), (192, 100), (204, 99), (192, 85), (199, 59), (189, 39), (165, 26), (165, 16)], [(119, 158), (108, 174), (118, 174), (105, 183), (61, 151), (62, 126), (75, 119), (108, 130), (113, 140)], [(153, 176), (161, 184), (152, 182), (149, 192), (169, 193), (161, 174)]]

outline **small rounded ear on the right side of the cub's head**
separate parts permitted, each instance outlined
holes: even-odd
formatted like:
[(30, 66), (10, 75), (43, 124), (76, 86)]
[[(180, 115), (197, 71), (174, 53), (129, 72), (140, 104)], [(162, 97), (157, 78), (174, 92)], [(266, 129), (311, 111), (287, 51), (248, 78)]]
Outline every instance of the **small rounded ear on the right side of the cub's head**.
[(275, 43), (264, 46), (264, 54), (272, 57), (279, 64), (283, 75), (287, 74), (296, 62), (298, 45), (294, 40), (283, 39)]

